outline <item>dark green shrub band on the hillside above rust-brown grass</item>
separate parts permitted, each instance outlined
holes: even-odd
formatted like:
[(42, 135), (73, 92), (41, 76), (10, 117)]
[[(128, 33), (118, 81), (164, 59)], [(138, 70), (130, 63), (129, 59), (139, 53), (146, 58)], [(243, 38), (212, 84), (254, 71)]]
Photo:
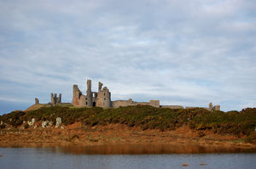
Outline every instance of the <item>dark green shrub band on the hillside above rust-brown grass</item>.
[[(212, 130), (215, 133), (246, 134), (255, 139), (256, 108), (247, 108), (241, 111), (209, 111), (205, 109), (172, 110), (154, 108), (151, 106), (128, 106), (118, 109), (102, 108), (70, 108), (54, 106), (28, 112), (13, 111), (0, 116), (0, 121), (14, 127), (20, 126), (23, 121), (53, 121), (61, 117), (65, 125), (82, 121), (84, 125), (106, 125), (122, 123), (129, 127), (145, 129), (173, 130), (188, 125), (195, 130)], [(0, 126), (4, 127), (4, 124)]]

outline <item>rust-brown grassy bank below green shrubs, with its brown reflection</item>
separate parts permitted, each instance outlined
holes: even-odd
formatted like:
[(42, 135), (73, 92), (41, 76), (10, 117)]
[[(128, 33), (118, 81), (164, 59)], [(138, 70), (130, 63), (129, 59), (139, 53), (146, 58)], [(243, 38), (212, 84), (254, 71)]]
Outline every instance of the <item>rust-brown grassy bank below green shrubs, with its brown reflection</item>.
[[(83, 148), (84, 152), (89, 151), (92, 154), (93, 149), (98, 149), (99, 154), (105, 154), (105, 151), (108, 154), (111, 154), (111, 151), (116, 154), (119, 154), (119, 151), (125, 154), (256, 153), (256, 145), (244, 143), (244, 138), (218, 135), (210, 131), (201, 133), (189, 127), (160, 132), (157, 129), (142, 130), (140, 127), (127, 127), (122, 124), (83, 127), (82, 123), (76, 122), (66, 126), (65, 129), (55, 127), (2, 129), (0, 147), (63, 149), (73, 147), (73, 149)], [(137, 151), (130, 152), (129, 149), (137, 149)]]

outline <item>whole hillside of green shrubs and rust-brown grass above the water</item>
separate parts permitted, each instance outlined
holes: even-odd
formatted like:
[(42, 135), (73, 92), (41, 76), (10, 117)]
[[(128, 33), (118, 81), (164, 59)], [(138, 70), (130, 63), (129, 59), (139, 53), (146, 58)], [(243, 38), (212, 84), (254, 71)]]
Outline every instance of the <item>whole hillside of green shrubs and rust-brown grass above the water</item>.
[(256, 108), (223, 112), (146, 105), (118, 109), (56, 105), (13, 111), (1, 115), (0, 121), (3, 146), (194, 143), (256, 148)]

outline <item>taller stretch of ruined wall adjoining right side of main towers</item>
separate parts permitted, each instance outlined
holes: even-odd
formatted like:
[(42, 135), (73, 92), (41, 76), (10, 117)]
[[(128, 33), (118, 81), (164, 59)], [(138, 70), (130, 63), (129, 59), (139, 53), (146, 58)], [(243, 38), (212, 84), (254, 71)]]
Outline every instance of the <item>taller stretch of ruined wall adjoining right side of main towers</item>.
[(133, 105), (150, 105), (153, 107), (160, 107), (159, 100), (150, 100), (149, 102), (134, 102), (132, 99), (128, 100), (116, 100), (112, 102), (113, 108), (119, 108), (121, 106), (133, 106)]

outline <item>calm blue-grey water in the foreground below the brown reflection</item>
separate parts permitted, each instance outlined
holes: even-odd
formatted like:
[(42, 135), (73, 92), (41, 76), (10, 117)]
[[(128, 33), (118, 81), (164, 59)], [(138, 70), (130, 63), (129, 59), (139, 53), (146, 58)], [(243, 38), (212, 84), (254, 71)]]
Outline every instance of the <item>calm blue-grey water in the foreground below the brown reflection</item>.
[[(72, 148), (69, 148), (72, 149)], [(77, 151), (74, 151), (77, 152)], [(1, 169), (252, 169), (255, 153), (86, 155), (62, 148), (0, 148)], [(187, 163), (189, 166), (183, 166)], [(201, 166), (201, 163), (206, 165)]]

